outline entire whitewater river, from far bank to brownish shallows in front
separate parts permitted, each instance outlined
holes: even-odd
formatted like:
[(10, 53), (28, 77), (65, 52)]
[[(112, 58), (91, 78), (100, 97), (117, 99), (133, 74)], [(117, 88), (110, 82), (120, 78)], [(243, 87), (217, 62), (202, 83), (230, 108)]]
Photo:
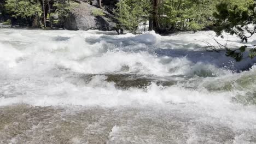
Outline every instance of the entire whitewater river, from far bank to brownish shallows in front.
[(0, 29), (0, 143), (256, 143), (256, 59), (211, 34)]

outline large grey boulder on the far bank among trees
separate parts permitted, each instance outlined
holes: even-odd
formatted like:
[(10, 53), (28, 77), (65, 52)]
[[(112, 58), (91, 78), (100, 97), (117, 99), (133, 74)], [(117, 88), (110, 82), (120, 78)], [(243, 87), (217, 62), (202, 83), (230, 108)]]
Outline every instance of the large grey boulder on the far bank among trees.
[(81, 2), (79, 6), (71, 11), (71, 15), (65, 21), (65, 28), (69, 30), (89, 30), (99, 29), (102, 31), (112, 31), (115, 29), (113, 17), (103, 10), (105, 16), (94, 16), (92, 11), (101, 10), (88, 3)]

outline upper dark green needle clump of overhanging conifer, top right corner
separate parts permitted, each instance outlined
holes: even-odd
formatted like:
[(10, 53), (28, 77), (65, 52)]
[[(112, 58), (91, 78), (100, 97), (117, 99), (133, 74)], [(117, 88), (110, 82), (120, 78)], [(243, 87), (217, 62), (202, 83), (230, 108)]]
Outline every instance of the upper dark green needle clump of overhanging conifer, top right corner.
[(218, 36), (222, 35), (223, 31), (232, 35), (236, 34), (241, 38), (242, 42), (247, 42), (248, 37), (246, 37), (245, 33), (252, 33), (249, 25), (256, 24), (254, 7), (253, 3), (246, 10), (239, 8), (238, 5), (230, 7), (228, 3), (218, 4), (216, 7), (217, 12), (213, 14), (217, 25), (214, 31)]

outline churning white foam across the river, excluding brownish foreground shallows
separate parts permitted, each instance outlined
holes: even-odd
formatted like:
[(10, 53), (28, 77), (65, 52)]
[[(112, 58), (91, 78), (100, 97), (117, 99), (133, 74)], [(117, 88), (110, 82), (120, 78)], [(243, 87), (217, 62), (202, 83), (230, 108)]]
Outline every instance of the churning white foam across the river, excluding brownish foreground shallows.
[[(238, 94), (253, 93), (254, 86), (210, 91), (197, 85), (235, 82), (243, 76), (254, 79), (255, 67), (240, 74), (230, 70), (246, 68), (255, 59), (237, 63), (224, 53), (202, 52), (203, 43), (195, 39), (210, 40), (206, 32), (166, 37), (154, 32), (114, 36), (97, 33), (0, 29), (0, 106), (177, 106), (184, 112), (228, 121), (232, 127), (249, 128), (256, 122), (255, 106), (232, 101)], [(232, 39), (232, 44), (239, 44), (237, 38)], [(167, 51), (161, 55), (159, 49)], [(192, 78), (169, 87), (152, 83), (146, 89), (119, 89), (99, 75), (89, 83), (78, 82), (82, 78), (77, 75), (106, 73)], [(206, 76), (202, 76), (204, 73)]]

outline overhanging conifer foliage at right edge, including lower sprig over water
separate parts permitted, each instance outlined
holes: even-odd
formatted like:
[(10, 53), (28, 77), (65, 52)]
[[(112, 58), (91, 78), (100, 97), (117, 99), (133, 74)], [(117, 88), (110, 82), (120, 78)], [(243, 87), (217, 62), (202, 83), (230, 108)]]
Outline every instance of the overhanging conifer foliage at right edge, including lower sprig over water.
[[(235, 0), (236, 1), (236, 0)], [(234, 2), (234, 1), (233, 1)], [(213, 14), (216, 18), (216, 28), (214, 31), (217, 36), (224, 37), (223, 32), (230, 33), (231, 35), (237, 35), (241, 42), (247, 43), (248, 39), (256, 33), (256, 3), (248, 0), (245, 3), (236, 4), (222, 2), (216, 6), (217, 11)], [(243, 58), (243, 52), (249, 48), (249, 57), (256, 56), (255, 45), (241, 46), (238, 50), (231, 50), (225, 47), (226, 56), (241, 61)]]

